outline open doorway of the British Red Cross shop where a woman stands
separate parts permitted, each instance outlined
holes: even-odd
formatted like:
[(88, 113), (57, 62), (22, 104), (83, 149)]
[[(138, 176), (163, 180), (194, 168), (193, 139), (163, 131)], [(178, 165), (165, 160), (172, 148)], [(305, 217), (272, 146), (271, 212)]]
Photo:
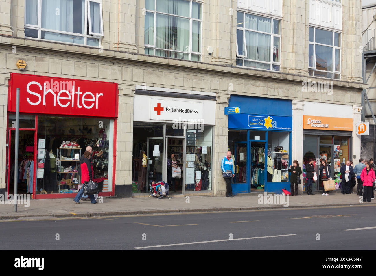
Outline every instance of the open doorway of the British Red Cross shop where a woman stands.
[[(185, 162), (185, 139), (179, 137), (166, 137), (166, 173), (165, 173), (165, 181), (169, 185), (169, 194), (183, 194), (185, 193), (185, 169), (188, 166)], [(174, 154), (174, 155), (172, 155)], [(180, 178), (172, 176), (172, 170), (174, 167), (172, 166), (176, 162), (177, 168), (180, 168)], [(176, 169), (177, 169), (176, 168)], [(194, 179), (192, 181), (188, 181), (192, 183), (187, 183), (188, 190), (194, 190), (195, 182)]]

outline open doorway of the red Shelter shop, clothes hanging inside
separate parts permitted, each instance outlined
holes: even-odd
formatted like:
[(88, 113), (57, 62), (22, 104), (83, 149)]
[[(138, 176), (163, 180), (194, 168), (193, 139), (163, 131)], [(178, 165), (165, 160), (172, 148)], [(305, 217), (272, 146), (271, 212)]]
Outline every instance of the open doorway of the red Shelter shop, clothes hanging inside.
[(15, 130), (8, 130), (7, 152), (7, 196), (14, 195), (15, 171), (17, 171), (17, 193), (33, 194), (36, 181), (35, 169), (35, 131), (19, 130), (18, 133), (18, 157), (15, 152)]

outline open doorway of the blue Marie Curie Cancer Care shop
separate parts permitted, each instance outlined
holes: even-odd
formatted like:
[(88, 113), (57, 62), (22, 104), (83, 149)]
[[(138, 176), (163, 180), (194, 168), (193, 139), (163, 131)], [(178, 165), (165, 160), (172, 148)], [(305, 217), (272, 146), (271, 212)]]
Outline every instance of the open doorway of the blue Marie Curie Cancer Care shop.
[(265, 189), (265, 146), (266, 142), (250, 142), (250, 190), (264, 191)]

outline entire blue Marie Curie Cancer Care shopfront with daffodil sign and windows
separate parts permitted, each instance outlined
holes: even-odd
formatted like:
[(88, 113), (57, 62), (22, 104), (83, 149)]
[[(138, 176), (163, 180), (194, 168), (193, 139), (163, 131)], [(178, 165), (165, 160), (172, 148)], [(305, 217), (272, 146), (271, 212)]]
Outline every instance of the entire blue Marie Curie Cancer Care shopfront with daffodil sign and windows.
[(227, 110), (233, 195), (290, 190), (291, 101), (231, 95)]

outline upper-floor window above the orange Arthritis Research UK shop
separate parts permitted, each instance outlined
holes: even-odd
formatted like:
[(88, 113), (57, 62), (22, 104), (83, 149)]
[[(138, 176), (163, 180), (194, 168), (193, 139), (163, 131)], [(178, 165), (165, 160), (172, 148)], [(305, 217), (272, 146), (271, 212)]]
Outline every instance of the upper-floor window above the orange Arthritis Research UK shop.
[(341, 79), (341, 34), (309, 27), (310, 76)]

